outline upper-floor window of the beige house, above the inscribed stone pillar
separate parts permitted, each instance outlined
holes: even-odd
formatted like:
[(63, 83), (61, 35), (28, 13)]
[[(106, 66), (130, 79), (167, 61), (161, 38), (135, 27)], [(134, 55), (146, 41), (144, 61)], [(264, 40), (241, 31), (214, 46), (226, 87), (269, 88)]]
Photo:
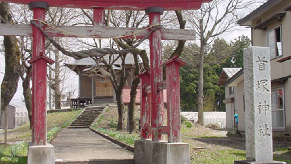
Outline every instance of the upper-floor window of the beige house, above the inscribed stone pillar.
[(270, 48), (270, 59), (282, 55), (281, 26), (267, 32), (267, 46)]

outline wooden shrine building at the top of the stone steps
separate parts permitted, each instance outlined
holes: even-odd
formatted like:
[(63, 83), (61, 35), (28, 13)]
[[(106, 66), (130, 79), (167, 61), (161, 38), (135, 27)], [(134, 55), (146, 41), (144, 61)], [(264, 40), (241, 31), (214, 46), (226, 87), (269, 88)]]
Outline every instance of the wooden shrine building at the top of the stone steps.
[[(118, 55), (113, 55), (114, 58)], [(105, 55), (104, 58), (109, 61), (109, 55)], [(139, 60), (141, 63), (141, 60)], [(83, 58), (75, 60), (73, 63), (66, 63), (65, 66), (69, 67), (72, 71), (79, 75), (79, 96), (76, 99), (71, 99), (73, 106), (76, 104), (95, 104), (95, 103), (113, 103), (115, 102), (115, 93), (111, 81), (109, 78), (104, 78), (97, 73), (92, 76), (84, 74), (84, 71), (88, 71), (92, 66), (96, 65), (96, 62), (90, 58)], [(100, 67), (105, 68), (105, 65), (100, 62)], [(121, 59), (118, 58), (113, 64), (113, 69), (117, 75), (120, 75), (121, 71)], [(125, 72), (129, 73), (125, 86), (131, 86), (134, 78), (134, 57), (131, 53), (127, 54), (125, 58)], [(105, 68), (106, 69), (106, 68)], [(120, 80), (120, 76), (118, 76)]]

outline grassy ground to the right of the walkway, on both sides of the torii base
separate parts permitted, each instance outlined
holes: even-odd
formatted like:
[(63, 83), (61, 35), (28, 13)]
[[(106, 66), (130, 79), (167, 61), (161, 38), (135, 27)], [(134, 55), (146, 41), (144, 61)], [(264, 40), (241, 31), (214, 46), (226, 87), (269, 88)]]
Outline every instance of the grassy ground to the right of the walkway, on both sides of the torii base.
[[(107, 113), (104, 116), (100, 117), (94, 129), (130, 145), (134, 145), (134, 140), (140, 138), (139, 134), (116, 131), (113, 127), (117, 117), (112, 110), (110, 116)], [(189, 143), (191, 164), (233, 164), (235, 160), (246, 160), (243, 138), (226, 137), (222, 132), (224, 130), (191, 126), (184, 118), (181, 118), (181, 124), (182, 142)], [(274, 160), (291, 164), (291, 152), (286, 147), (274, 144)]]

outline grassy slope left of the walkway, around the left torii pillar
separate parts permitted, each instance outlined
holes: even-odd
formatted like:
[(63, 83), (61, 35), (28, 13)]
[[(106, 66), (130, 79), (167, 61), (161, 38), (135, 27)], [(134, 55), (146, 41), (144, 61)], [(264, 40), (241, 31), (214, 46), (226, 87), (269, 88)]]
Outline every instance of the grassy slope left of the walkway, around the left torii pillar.
[[(69, 111), (61, 113), (47, 114), (47, 140), (51, 140), (54, 135), (62, 128), (67, 127), (81, 113), (78, 111)], [(4, 134), (1, 134), (3, 136)], [(29, 123), (18, 128), (8, 130), (8, 142), (21, 141), (17, 144), (8, 145), (4, 149), (0, 146), (0, 163), (1, 164), (26, 164), (27, 163), (27, 142), (31, 141), (31, 130)], [(2, 137), (1, 137), (2, 139)]]

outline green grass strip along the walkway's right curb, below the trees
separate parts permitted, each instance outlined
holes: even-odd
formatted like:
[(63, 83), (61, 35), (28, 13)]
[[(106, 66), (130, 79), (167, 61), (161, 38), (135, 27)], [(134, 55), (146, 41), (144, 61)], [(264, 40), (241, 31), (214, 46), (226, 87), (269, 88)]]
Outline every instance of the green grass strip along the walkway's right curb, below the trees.
[(133, 134), (129, 134), (126, 132), (120, 132), (120, 131), (113, 131), (115, 130), (113, 129), (103, 129), (103, 128), (94, 128), (96, 130), (98, 130), (99, 132), (102, 132), (104, 134), (109, 135), (110, 137), (116, 138), (120, 141), (123, 141), (129, 145), (134, 145), (134, 140), (139, 139), (139, 135), (137, 135), (136, 133)]

